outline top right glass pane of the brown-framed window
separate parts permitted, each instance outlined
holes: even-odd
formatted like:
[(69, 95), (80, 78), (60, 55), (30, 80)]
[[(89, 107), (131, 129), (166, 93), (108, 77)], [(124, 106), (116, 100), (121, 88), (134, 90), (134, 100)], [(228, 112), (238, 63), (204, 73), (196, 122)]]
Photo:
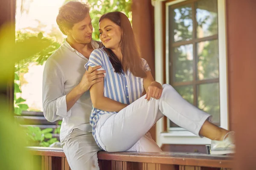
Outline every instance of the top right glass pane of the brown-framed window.
[(218, 33), (217, 0), (200, 0), (196, 3), (197, 37)]

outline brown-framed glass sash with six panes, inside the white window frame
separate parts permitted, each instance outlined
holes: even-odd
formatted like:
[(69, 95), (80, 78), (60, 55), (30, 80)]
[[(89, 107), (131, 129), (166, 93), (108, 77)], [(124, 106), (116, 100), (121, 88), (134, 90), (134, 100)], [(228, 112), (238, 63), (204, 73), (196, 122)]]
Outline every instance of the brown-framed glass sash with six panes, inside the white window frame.
[[(169, 6), (169, 77), (188, 102), (220, 126), (217, 0)], [(167, 57), (167, 56), (166, 56)], [(169, 121), (169, 127), (178, 127)]]

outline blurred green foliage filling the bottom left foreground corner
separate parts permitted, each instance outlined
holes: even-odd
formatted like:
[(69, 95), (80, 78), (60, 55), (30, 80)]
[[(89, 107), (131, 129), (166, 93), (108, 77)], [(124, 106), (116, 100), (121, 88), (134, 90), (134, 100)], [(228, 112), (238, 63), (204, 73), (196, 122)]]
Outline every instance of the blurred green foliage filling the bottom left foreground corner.
[[(2, 72), (1, 72), (2, 74)], [(39, 170), (40, 162), (31, 164), (29, 150), (26, 149), (26, 134), (15, 124), (12, 113), (6, 111), (0, 99), (0, 169), (1, 170)]]

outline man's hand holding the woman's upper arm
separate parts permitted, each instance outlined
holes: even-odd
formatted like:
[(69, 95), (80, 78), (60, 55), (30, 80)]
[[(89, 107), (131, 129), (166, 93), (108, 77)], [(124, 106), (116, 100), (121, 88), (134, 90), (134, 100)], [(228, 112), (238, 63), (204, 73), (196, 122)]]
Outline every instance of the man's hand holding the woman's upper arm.
[(97, 71), (99, 68), (101, 68), (101, 66), (97, 65), (93, 68), (88, 69), (88, 71), (85, 71), (81, 82), (79, 83), (79, 88), (81, 89), (82, 93), (88, 91), (93, 84), (104, 80), (104, 73), (106, 71)]

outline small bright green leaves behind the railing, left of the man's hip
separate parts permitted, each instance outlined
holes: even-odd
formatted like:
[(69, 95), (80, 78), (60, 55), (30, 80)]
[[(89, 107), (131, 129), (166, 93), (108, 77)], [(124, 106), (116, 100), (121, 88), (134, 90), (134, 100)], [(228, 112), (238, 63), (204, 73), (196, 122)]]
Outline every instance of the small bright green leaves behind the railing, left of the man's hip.
[(28, 146), (49, 147), (54, 142), (59, 142), (57, 138), (52, 138), (52, 128), (41, 130), (39, 127), (28, 126), (26, 134), (28, 136)]

